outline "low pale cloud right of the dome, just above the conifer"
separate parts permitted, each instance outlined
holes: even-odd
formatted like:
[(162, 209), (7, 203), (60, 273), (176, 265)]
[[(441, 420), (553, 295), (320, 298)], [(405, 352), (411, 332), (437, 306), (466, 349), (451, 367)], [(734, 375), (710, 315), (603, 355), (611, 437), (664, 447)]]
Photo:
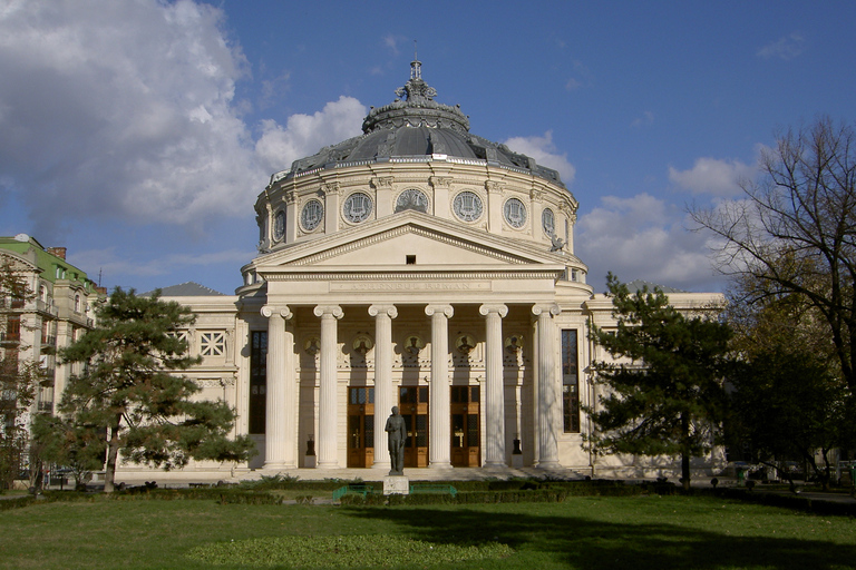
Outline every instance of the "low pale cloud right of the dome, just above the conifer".
[(687, 232), (684, 217), (680, 208), (648, 194), (603, 197), (580, 217), (574, 238), (595, 292), (607, 272), (625, 283), (644, 279), (685, 289), (710, 283), (706, 237)]

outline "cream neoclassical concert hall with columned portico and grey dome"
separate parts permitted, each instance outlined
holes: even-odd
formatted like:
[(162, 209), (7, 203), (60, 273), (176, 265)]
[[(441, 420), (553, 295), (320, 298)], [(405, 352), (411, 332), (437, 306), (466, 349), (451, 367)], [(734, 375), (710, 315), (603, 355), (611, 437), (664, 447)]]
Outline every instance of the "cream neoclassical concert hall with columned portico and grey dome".
[[(188, 375), (260, 452), (187, 471), (389, 469), (393, 405), (407, 468), (644, 469), (581, 445), (603, 357), (586, 328), (609, 326), (612, 305), (574, 255), (573, 194), (470, 134), (419, 61), (396, 94), (361, 136), (271, 177), (235, 295), (165, 291), (197, 315)], [(671, 297), (692, 309), (717, 295)]]

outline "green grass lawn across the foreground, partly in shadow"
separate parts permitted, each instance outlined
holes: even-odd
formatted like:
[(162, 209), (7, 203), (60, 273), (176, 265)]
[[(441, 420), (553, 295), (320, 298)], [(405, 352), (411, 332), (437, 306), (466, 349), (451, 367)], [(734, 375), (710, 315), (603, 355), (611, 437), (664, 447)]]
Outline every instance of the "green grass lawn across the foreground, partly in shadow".
[[(434, 543), (498, 541), (515, 551), (454, 568), (856, 568), (856, 519), (658, 495), (395, 508), (189, 500), (36, 504), (0, 514), (0, 568), (259, 568), (212, 567), (186, 556), (232, 540), (367, 535), (371, 542), (377, 534)], [(432, 567), (419, 559), (396, 568)]]

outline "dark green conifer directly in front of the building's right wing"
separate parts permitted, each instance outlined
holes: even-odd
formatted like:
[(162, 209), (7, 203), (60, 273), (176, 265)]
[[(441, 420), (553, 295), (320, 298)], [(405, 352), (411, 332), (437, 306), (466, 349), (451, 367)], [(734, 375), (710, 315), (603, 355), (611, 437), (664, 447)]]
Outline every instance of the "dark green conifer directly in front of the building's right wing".
[(685, 316), (660, 289), (631, 294), (606, 277), (617, 328), (593, 326), (590, 337), (614, 362), (593, 364), (595, 383), (607, 390), (590, 406), (597, 452), (680, 455), (684, 488), (690, 459), (710, 451), (723, 416), (723, 379), (730, 367), (728, 325)]

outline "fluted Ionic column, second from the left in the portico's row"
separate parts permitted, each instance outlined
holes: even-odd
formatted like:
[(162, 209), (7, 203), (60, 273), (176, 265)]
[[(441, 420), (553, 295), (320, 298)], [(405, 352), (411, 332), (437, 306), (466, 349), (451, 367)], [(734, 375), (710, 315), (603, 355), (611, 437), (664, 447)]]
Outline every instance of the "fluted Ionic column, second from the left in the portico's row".
[(321, 317), (321, 371), (318, 393), (318, 468), (335, 469), (339, 466), (339, 448), (335, 431), (339, 421), (337, 405), (337, 362), (335, 350), (337, 321), (344, 316), (339, 305), (318, 305), (315, 316)]

